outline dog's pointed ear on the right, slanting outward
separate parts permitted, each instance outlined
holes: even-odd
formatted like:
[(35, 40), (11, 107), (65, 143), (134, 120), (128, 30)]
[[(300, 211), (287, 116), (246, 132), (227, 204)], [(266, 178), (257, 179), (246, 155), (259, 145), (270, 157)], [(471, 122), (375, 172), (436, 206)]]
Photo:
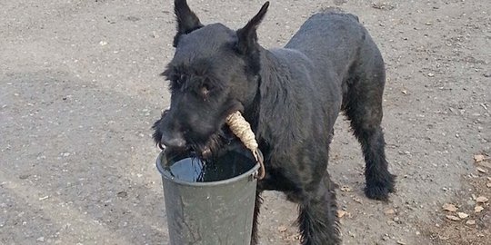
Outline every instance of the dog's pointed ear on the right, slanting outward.
[(247, 23), (246, 26), (237, 30), (237, 51), (240, 54), (247, 54), (252, 51), (257, 44), (256, 30), (266, 15), (269, 2), (266, 2), (259, 12)]

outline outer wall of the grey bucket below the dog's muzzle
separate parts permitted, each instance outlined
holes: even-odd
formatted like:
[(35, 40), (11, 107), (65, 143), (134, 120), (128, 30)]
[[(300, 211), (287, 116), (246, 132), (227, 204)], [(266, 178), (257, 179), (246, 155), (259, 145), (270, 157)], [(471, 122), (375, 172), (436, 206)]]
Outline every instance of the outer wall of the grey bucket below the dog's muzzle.
[(164, 184), (170, 244), (249, 245), (259, 164), (223, 181), (191, 182), (175, 178), (168, 162), (161, 152), (156, 166)]

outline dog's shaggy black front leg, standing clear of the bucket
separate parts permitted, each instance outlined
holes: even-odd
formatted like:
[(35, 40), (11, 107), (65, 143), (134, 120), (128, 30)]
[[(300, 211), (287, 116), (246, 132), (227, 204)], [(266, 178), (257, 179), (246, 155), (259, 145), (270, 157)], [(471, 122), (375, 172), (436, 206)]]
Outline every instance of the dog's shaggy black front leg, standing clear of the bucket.
[(327, 173), (315, 193), (295, 197), (299, 201), (298, 225), (303, 245), (341, 244), (335, 184)]

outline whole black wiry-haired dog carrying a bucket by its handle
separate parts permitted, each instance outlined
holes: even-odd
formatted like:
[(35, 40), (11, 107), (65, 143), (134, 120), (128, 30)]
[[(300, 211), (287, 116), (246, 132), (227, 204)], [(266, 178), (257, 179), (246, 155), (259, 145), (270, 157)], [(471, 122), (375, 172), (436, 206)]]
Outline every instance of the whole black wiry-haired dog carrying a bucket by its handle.
[(266, 162), (252, 243), (260, 193), (276, 190), (299, 204), (303, 244), (338, 244), (335, 186), (326, 172), (338, 113), (362, 145), (366, 196), (387, 200), (395, 191), (380, 127), (384, 61), (357, 17), (336, 11), (313, 15), (285, 48), (266, 50), (256, 29), (268, 5), (234, 31), (202, 25), (185, 0), (175, 0), (176, 50), (163, 73), (171, 106), (155, 122), (155, 142), (206, 157), (230, 140), (225, 117), (240, 111)]

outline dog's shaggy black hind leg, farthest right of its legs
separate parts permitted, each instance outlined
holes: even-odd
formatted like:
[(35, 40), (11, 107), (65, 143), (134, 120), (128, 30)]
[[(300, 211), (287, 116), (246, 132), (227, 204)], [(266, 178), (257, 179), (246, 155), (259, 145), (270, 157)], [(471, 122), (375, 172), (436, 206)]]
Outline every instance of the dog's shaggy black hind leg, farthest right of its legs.
[(380, 126), (386, 73), (378, 51), (367, 52), (372, 52), (376, 58), (362, 61), (364, 67), (354, 69), (353, 78), (348, 81), (343, 107), (365, 157), (366, 196), (386, 201), (388, 193), (395, 191), (396, 179), (396, 176), (387, 170), (386, 142)]

